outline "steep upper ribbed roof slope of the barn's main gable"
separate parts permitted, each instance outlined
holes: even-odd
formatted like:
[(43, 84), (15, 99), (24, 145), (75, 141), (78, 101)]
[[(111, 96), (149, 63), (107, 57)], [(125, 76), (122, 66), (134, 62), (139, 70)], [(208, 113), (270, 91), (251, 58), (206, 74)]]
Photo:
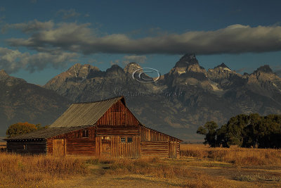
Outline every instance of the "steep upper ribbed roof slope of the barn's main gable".
[(50, 128), (93, 125), (113, 104), (123, 98), (123, 96), (118, 96), (103, 101), (72, 104), (50, 125)]

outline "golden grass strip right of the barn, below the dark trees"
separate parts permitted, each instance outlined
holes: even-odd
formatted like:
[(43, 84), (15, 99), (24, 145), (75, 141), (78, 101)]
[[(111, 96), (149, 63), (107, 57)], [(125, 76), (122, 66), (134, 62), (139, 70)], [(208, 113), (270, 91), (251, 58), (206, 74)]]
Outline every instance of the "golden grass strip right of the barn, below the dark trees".
[(203, 144), (181, 144), (181, 156), (209, 158), (236, 165), (281, 165), (280, 149), (210, 148)]

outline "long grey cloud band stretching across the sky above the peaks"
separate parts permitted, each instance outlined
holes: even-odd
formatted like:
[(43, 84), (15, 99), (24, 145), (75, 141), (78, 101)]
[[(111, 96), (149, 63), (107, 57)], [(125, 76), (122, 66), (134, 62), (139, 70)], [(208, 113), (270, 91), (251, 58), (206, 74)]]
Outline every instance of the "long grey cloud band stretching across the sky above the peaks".
[(63, 50), (82, 54), (240, 54), (281, 50), (281, 27), (230, 25), (214, 31), (166, 33), (133, 39), (124, 34), (98, 35), (91, 24), (59, 23), (35, 30), (27, 39), (7, 40), (11, 46), (37, 51)]

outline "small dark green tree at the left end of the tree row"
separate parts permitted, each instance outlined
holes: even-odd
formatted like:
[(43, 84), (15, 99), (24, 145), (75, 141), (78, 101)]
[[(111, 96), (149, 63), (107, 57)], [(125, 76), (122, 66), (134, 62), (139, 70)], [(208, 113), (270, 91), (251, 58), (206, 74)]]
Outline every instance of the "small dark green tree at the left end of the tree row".
[(211, 147), (215, 147), (216, 145), (216, 129), (218, 128), (218, 124), (214, 121), (208, 121), (204, 126), (198, 127), (197, 134), (203, 134), (206, 137), (204, 138), (204, 144), (209, 144)]

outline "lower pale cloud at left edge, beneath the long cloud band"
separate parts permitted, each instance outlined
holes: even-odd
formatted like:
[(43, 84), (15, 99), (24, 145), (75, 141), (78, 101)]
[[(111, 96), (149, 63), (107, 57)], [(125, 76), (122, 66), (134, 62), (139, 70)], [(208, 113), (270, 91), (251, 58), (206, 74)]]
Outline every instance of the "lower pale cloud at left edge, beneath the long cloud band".
[(15, 73), (20, 69), (29, 70), (32, 73), (35, 70), (43, 70), (48, 65), (54, 68), (65, 67), (68, 62), (74, 61), (77, 56), (76, 53), (61, 51), (57, 53), (39, 52), (30, 54), (0, 47), (0, 69), (6, 70), (7, 73)]

